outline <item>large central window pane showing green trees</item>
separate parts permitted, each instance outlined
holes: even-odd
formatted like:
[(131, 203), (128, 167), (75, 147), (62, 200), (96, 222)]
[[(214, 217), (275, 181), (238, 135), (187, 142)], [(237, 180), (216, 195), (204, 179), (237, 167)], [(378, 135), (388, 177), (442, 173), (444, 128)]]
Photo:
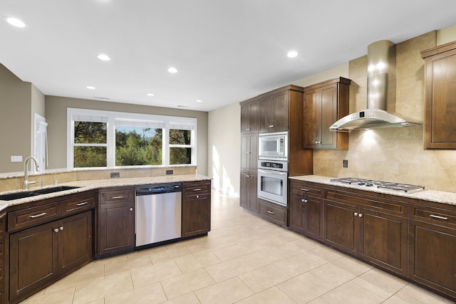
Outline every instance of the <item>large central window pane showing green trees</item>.
[(115, 127), (115, 165), (162, 164), (162, 129)]

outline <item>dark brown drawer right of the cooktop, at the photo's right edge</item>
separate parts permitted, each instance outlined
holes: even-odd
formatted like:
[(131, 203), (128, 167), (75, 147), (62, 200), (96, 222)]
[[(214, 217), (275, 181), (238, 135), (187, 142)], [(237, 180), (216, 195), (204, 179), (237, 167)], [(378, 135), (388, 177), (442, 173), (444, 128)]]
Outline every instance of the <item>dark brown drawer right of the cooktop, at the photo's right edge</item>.
[(456, 211), (428, 206), (411, 205), (410, 219), (456, 227)]

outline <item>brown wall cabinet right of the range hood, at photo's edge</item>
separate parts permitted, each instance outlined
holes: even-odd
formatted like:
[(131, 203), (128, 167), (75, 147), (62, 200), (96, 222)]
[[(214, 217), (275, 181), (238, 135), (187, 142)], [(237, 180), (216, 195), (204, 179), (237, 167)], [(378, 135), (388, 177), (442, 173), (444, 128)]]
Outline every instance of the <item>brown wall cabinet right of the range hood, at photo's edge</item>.
[(422, 51), (425, 148), (456, 149), (456, 41)]

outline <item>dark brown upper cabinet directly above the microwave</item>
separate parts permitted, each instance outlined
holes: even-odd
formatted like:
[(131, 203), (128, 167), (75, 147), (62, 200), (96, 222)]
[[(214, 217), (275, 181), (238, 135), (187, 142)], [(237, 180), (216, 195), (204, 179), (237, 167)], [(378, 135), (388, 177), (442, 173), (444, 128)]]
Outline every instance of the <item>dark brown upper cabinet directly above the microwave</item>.
[(290, 107), (294, 108), (295, 103), (302, 103), (302, 95), (296, 95), (292, 92), (302, 94), (303, 88), (296, 85), (287, 85), (286, 87), (273, 90), (269, 93), (259, 95), (259, 132), (284, 132), (288, 131), (290, 117), (292, 117)]

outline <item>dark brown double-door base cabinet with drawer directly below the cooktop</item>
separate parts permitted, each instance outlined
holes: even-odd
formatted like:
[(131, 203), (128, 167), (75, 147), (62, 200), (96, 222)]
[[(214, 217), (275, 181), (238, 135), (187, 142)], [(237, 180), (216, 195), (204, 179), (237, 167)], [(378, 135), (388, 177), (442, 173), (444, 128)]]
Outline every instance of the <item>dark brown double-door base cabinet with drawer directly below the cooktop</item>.
[(382, 194), (326, 189), (324, 242), (389, 271), (408, 273), (408, 204)]

